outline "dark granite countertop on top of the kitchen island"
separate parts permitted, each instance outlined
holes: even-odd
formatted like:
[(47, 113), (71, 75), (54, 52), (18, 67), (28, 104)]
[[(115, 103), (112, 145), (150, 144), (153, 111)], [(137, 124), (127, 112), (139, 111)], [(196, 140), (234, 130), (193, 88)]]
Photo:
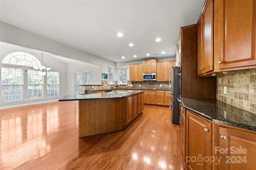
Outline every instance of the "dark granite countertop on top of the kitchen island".
[(131, 96), (144, 91), (123, 90), (118, 92), (96, 93), (96, 94), (68, 94), (61, 98), (59, 101), (72, 101), (72, 100), (92, 100), (92, 99), (110, 99), (122, 98)]

